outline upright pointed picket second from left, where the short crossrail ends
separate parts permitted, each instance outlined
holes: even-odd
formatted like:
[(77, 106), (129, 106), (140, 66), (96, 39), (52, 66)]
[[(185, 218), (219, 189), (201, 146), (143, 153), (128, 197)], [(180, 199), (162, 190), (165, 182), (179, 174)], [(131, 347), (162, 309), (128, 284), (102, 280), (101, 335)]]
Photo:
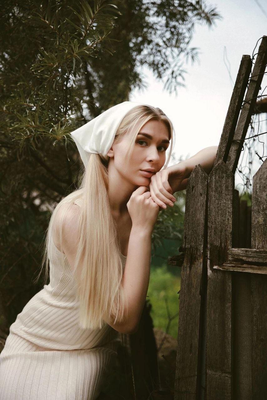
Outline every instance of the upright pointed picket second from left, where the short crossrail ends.
[(223, 161), (208, 177), (207, 400), (231, 400), (232, 279), (214, 270), (232, 247), (234, 176)]

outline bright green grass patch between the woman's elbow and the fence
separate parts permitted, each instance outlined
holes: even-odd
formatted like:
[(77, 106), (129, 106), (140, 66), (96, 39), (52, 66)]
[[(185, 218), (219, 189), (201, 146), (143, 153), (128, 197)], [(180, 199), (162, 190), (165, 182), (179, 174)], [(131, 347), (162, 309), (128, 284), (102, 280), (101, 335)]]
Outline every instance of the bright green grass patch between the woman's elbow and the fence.
[[(152, 304), (151, 316), (154, 328), (159, 328), (177, 339), (180, 277), (167, 270), (167, 265), (160, 268), (151, 266), (148, 299)], [(169, 326), (168, 326), (169, 325)]]

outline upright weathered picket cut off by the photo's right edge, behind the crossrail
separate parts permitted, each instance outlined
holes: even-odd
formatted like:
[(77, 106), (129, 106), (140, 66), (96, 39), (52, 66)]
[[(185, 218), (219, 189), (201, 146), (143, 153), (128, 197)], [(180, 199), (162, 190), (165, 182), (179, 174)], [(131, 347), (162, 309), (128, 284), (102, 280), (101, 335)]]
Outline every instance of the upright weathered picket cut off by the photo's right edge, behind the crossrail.
[[(253, 176), (251, 247), (267, 249), (267, 159)], [(251, 276), (251, 399), (266, 398), (267, 276)]]

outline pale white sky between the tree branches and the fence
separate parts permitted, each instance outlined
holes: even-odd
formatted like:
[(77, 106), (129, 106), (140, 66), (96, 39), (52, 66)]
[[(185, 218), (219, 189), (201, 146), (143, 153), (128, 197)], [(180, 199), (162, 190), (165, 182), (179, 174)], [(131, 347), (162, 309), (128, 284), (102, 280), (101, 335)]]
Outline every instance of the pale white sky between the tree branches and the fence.
[[(267, 4), (265, 0), (257, 2), (256, 0), (208, 1), (208, 4), (217, 6), (223, 19), (217, 20), (216, 26), (212, 28), (196, 25), (190, 47), (200, 49), (200, 64), (196, 61), (191, 66), (189, 61), (184, 65), (184, 69), (188, 71), (188, 74), (185, 74), (186, 88), (178, 87), (177, 96), (175, 93), (169, 94), (164, 91), (164, 83), (156, 81), (148, 69), (142, 70), (147, 76), (148, 87), (143, 91), (131, 92), (129, 100), (160, 107), (172, 120), (176, 132), (174, 153), (177, 160), (180, 156), (188, 158), (202, 148), (219, 144), (233, 91), (233, 84), (224, 63), (224, 47), (231, 65), (231, 76), (235, 82), (242, 55), (251, 56), (257, 40), (267, 35)], [(257, 48), (260, 42), (261, 40)], [(261, 85), (262, 90), (266, 85), (265, 75)], [(263, 94), (267, 94), (267, 88)], [(266, 115), (261, 114), (260, 120), (267, 118)], [(260, 126), (261, 132), (266, 132), (266, 122)], [(265, 142), (266, 156), (267, 135), (261, 135), (260, 138)], [(262, 145), (258, 149), (263, 153)], [(254, 173), (262, 163), (257, 155), (255, 158)], [(169, 165), (172, 164), (173, 162)]]

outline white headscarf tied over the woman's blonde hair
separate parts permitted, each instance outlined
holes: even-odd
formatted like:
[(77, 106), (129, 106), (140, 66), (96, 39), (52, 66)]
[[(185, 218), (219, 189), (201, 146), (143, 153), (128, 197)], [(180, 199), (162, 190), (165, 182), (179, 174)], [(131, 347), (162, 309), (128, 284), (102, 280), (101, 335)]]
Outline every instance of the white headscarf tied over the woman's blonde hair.
[(71, 132), (85, 168), (89, 153), (99, 154), (103, 160), (109, 159), (107, 152), (112, 146), (119, 124), (129, 110), (139, 105), (144, 103), (125, 101), (116, 104)]

